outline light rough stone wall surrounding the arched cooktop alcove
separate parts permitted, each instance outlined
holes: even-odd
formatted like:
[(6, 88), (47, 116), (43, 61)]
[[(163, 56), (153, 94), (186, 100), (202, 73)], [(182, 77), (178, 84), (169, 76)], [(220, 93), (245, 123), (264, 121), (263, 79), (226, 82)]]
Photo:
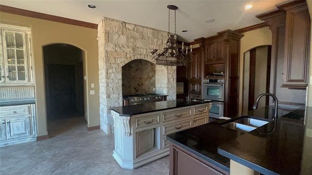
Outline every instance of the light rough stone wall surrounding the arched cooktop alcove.
[[(122, 106), (122, 69), (135, 59), (152, 61), (150, 51), (163, 48), (167, 32), (120, 20), (103, 18), (98, 24), (98, 66), (101, 129), (112, 134), (109, 108)], [(176, 99), (176, 66), (156, 65), (156, 92)]]

